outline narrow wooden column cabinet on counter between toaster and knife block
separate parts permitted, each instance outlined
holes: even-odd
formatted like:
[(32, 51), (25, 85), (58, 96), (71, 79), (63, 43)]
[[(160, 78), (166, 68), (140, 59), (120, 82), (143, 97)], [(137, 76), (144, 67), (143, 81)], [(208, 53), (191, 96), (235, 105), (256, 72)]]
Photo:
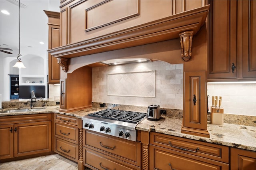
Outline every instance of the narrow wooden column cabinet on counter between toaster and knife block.
[(181, 132), (209, 137), (206, 123), (206, 71), (184, 72), (184, 117)]

